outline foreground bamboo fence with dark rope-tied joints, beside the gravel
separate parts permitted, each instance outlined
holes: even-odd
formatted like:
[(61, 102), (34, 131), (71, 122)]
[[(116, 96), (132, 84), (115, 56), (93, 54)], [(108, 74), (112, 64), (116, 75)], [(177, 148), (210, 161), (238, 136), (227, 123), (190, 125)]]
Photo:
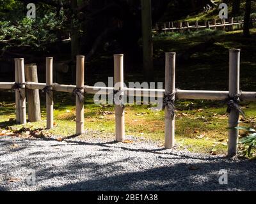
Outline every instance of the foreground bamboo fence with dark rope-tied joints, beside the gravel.
[[(84, 85), (84, 56), (77, 56), (76, 85), (54, 84), (52, 82), (52, 57), (46, 58), (46, 83), (25, 82), (24, 59), (15, 59), (15, 82), (19, 84), (16, 89), (16, 117), (17, 123), (26, 124), (26, 89), (45, 90), (47, 92), (47, 129), (53, 128), (53, 92), (76, 93), (76, 135), (84, 133), (84, 100), (83, 94), (113, 94), (123, 91), (127, 96), (161, 97), (170, 96), (175, 99), (205, 99), (228, 101), (230, 97), (239, 94), (243, 101), (256, 101), (256, 92), (240, 92), (240, 50), (230, 50), (229, 62), (229, 91), (194, 91), (175, 88), (175, 53), (166, 53), (165, 89), (131, 89), (124, 87), (124, 55), (114, 55), (115, 87), (92, 87)], [(0, 89), (13, 89), (15, 82), (0, 82)], [(79, 96), (80, 95), (80, 96)], [(124, 106), (115, 105), (116, 141), (125, 139)], [(175, 145), (175, 115), (165, 107), (165, 147), (173, 148)], [(237, 154), (239, 111), (232, 108), (229, 119), (228, 156)]]

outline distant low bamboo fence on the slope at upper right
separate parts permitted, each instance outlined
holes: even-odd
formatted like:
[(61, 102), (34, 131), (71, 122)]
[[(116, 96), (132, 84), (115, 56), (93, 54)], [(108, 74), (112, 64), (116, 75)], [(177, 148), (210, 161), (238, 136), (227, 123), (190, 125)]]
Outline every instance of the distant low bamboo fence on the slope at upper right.
[[(256, 17), (252, 18), (252, 23), (256, 22)], [(210, 20), (204, 20), (204, 24), (202, 22), (198, 22), (196, 20), (195, 22), (158, 22), (156, 26), (154, 27), (153, 31), (157, 31), (159, 33), (167, 33), (167, 32), (177, 32), (180, 33), (184, 31), (198, 31), (199, 29), (222, 29), (225, 31), (225, 29), (228, 28), (228, 31), (233, 31), (234, 27), (237, 26), (237, 28), (243, 29), (244, 20), (242, 18), (229, 18), (226, 19), (212, 19)]]

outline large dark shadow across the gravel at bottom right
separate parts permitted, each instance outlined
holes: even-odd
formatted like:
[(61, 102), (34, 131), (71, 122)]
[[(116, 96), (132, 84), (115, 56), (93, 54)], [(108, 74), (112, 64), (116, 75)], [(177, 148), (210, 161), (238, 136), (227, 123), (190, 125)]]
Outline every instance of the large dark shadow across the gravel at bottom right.
[[(96, 166), (95, 166), (96, 165)], [(76, 168), (90, 166), (94, 173), (100, 168), (93, 163), (77, 165)], [(196, 164), (198, 170), (189, 170), (185, 163), (174, 166), (164, 166), (141, 170), (134, 173), (124, 173), (99, 177), (61, 187), (47, 187), (42, 191), (255, 191), (256, 178), (250, 175), (250, 168), (255, 168), (255, 163), (243, 161), (241, 163), (200, 163)], [(108, 164), (109, 170), (118, 172), (118, 166)], [(220, 185), (218, 173), (222, 168), (232, 170), (228, 175), (228, 185)], [(74, 169), (74, 166), (72, 166)], [(108, 173), (107, 173), (108, 174)]]

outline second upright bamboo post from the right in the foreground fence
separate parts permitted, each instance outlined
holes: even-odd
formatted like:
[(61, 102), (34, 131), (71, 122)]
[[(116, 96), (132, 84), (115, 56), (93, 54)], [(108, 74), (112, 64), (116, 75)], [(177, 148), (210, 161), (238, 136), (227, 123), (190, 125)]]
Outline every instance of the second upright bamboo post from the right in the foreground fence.
[[(168, 96), (175, 92), (175, 52), (165, 55), (165, 94)], [(175, 96), (172, 98), (175, 99)], [(172, 117), (166, 107), (164, 115), (165, 123), (165, 148), (172, 149), (175, 145), (175, 116)]]

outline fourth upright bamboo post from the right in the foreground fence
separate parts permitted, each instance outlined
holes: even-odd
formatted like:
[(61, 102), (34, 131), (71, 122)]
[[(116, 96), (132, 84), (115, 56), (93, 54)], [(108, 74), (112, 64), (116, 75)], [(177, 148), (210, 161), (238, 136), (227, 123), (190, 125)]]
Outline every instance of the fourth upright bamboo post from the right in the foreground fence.
[[(84, 87), (84, 56), (76, 57), (76, 87), (83, 91)], [(84, 133), (84, 101), (76, 96), (76, 135)]]

